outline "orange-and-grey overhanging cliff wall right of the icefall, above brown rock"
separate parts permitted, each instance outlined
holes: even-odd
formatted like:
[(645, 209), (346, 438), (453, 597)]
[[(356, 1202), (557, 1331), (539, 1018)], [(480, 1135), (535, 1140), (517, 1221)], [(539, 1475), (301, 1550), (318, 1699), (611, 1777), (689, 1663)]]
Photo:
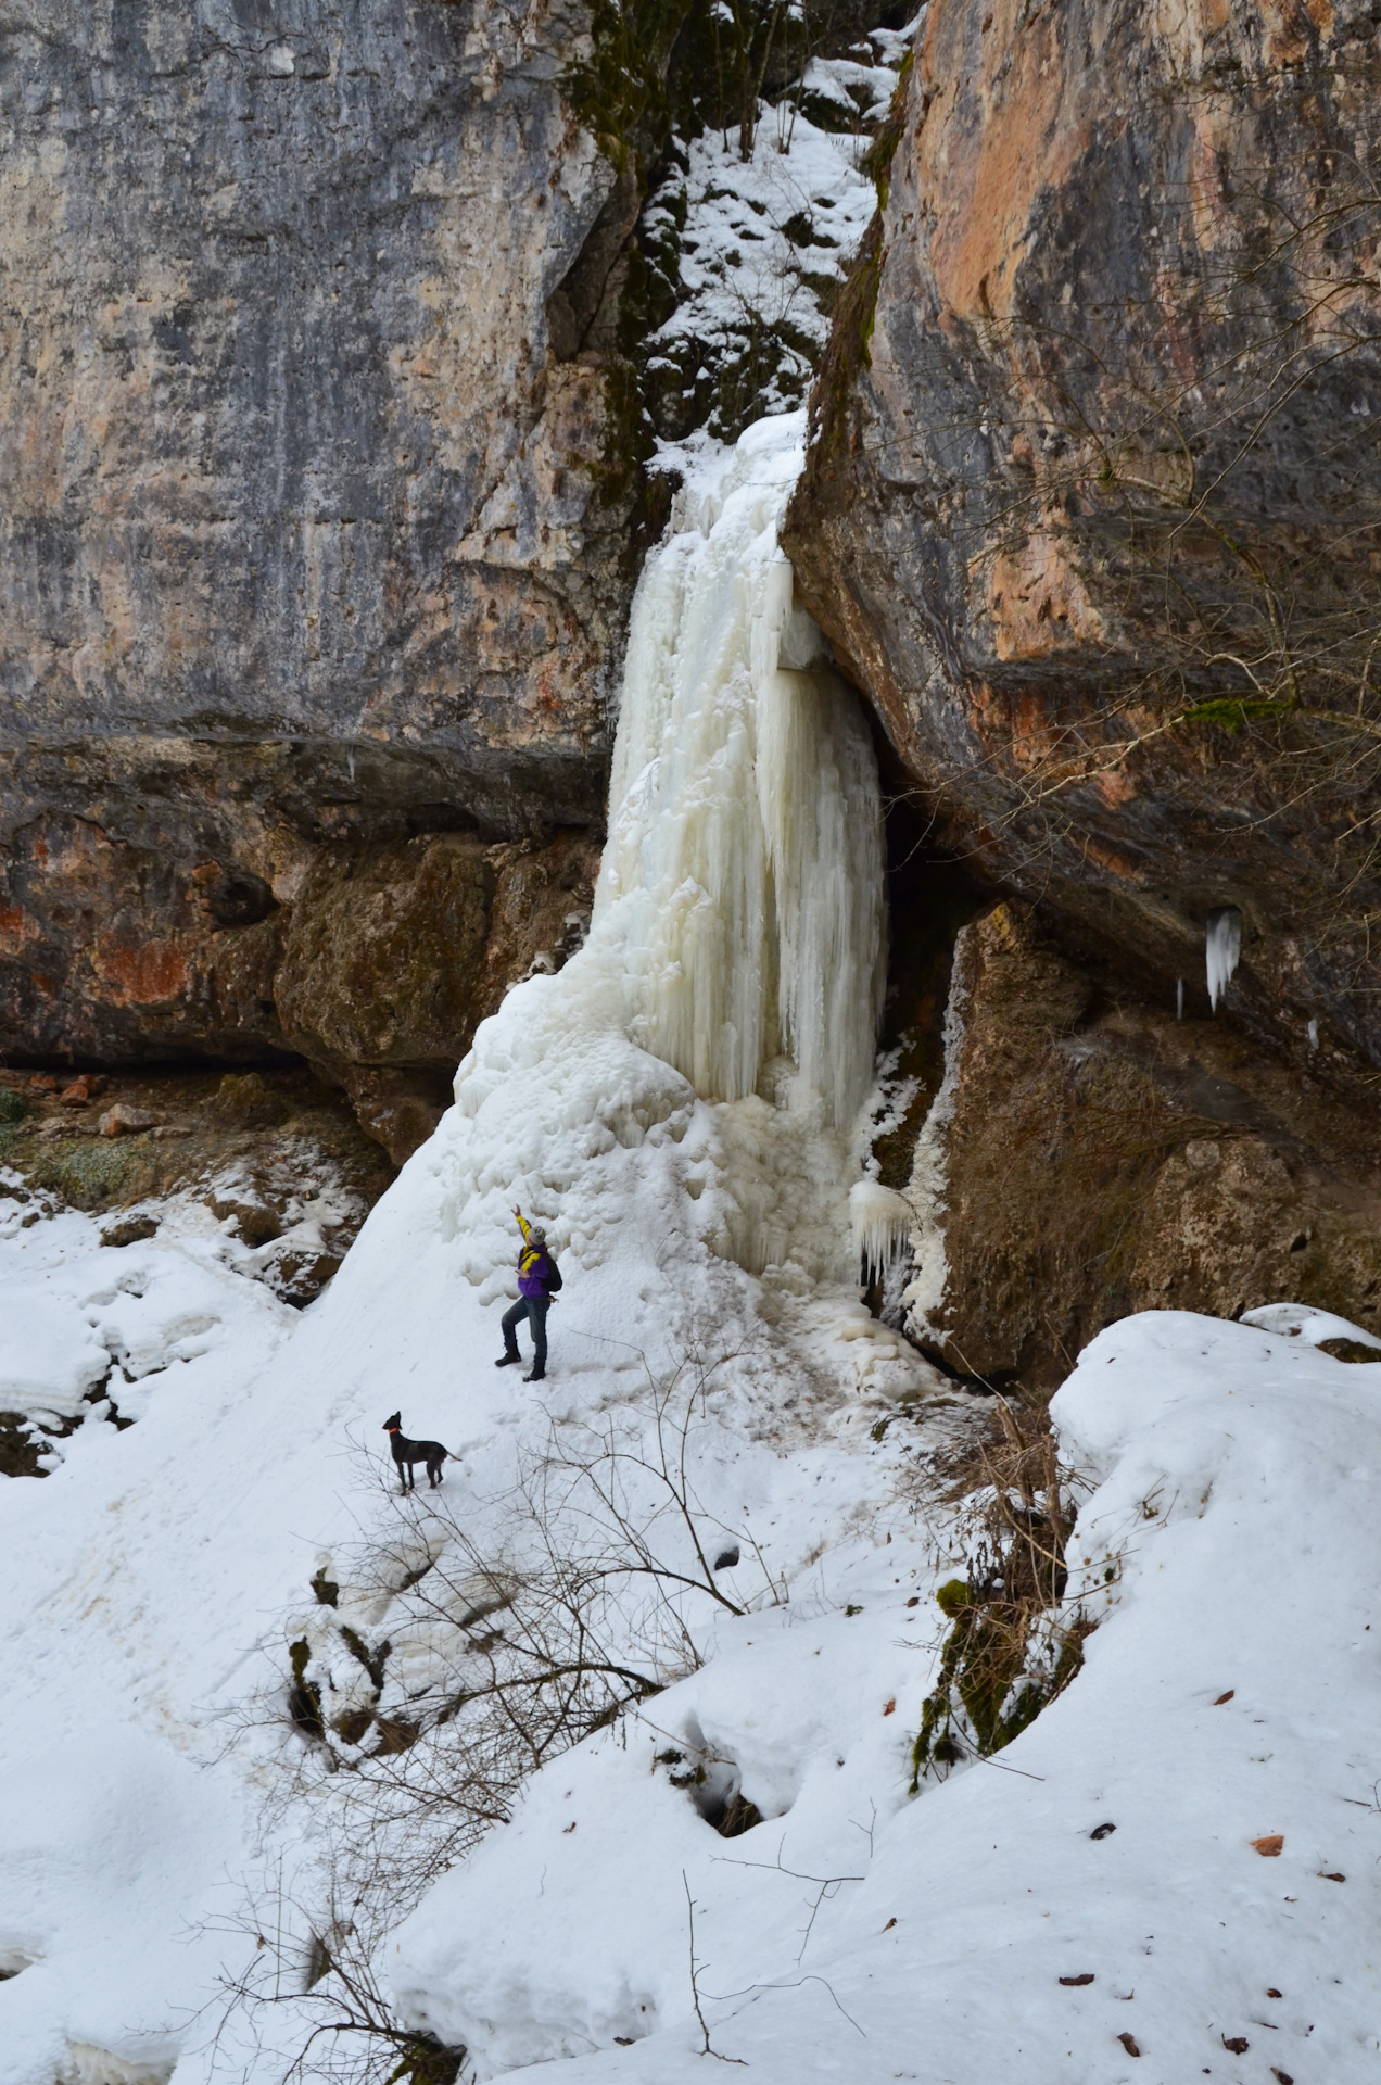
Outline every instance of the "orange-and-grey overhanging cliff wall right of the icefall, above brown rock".
[(1375, 0), (930, 0), (797, 580), (1070, 947), (1381, 1061)]

